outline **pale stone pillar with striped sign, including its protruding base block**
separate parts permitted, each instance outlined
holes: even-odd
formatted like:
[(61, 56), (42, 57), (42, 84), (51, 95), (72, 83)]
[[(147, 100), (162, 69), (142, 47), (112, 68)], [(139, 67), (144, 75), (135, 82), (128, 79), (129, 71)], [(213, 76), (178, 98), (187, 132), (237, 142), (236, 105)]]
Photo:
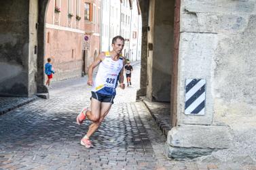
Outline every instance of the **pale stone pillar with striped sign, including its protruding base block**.
[(181, 1), (177, 126), (168, 133), (169, 157), (195, 158), (230, 148), (232, 133), (223, 115), (236, 119), (255, 112), (254, 5)]

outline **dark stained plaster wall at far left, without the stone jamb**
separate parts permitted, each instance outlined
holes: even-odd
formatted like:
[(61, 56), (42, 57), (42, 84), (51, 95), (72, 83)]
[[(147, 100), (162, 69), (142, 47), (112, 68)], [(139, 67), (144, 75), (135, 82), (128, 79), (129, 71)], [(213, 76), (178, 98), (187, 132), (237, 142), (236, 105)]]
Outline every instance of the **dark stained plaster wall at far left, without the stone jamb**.
[(0, 95), (29, 95), (29, 1), (0, 5)]

